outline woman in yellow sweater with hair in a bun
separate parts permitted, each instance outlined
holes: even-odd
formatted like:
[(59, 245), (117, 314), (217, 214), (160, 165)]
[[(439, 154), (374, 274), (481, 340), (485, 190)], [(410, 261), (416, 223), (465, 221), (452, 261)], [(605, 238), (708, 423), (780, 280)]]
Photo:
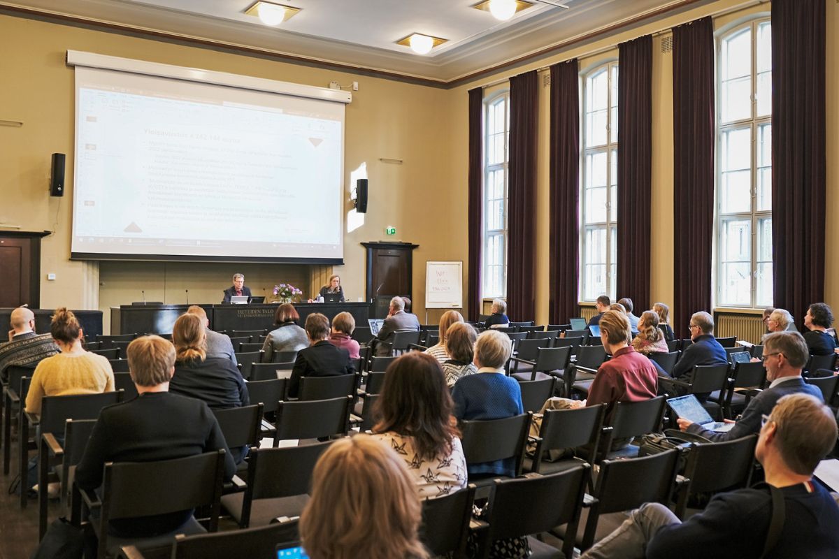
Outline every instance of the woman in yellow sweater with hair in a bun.
[(61, 353), (41, 360), (35, 367), (26, 396), (26, 411), (40, 415), (41, 398), (44, 396), (98, 394), (114, 390), (111, 364), (102, 355), (92, 354), (81, 347), (84, 333), (72, 311), (56, 308), (50, 333)]

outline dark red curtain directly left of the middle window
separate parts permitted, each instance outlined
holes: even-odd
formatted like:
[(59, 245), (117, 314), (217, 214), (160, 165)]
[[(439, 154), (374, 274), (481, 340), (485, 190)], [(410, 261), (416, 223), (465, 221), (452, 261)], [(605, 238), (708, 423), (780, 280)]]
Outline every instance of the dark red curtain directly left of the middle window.
[(580, 75), (577, 60), (550, 67), (550, 323), (576, 317), (580, 275)]

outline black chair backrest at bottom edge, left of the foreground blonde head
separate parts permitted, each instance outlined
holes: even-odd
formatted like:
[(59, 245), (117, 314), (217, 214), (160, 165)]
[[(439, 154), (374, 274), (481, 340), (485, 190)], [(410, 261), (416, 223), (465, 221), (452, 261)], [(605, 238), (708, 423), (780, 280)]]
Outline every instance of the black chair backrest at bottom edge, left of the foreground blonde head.
[(279, 543), (300, 540), (298, 520), (277, 522), (258, 528), (229, 530), (215, 534), (175, 536), (173, 559), (195, 557), (274, 557)]

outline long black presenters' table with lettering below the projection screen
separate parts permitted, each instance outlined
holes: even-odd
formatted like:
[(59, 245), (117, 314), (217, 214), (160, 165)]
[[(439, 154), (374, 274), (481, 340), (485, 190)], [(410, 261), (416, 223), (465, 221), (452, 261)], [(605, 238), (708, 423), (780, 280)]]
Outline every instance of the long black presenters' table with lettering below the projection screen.
[[(200, 305), (214, 330), (260, 330), (274, 326), (276, 304)], [(300, 314), (300, 326), (311, 313), (326, 314), (330, 320), (347, 311), (359, 326), (367, 325), (370, 303), (294, 303)], [(111, 334), (169, 334), (175, 320), (186, 312), (186, 305), (122, 305), (111, 308)]]

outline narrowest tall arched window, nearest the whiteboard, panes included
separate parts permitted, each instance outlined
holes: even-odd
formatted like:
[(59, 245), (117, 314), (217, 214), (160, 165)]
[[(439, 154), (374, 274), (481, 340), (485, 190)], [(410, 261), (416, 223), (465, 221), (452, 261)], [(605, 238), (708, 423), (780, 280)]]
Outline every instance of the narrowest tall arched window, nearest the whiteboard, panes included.
[(507, 176), (510, 95), (484, 102), (482, 297), (507, 296)]

